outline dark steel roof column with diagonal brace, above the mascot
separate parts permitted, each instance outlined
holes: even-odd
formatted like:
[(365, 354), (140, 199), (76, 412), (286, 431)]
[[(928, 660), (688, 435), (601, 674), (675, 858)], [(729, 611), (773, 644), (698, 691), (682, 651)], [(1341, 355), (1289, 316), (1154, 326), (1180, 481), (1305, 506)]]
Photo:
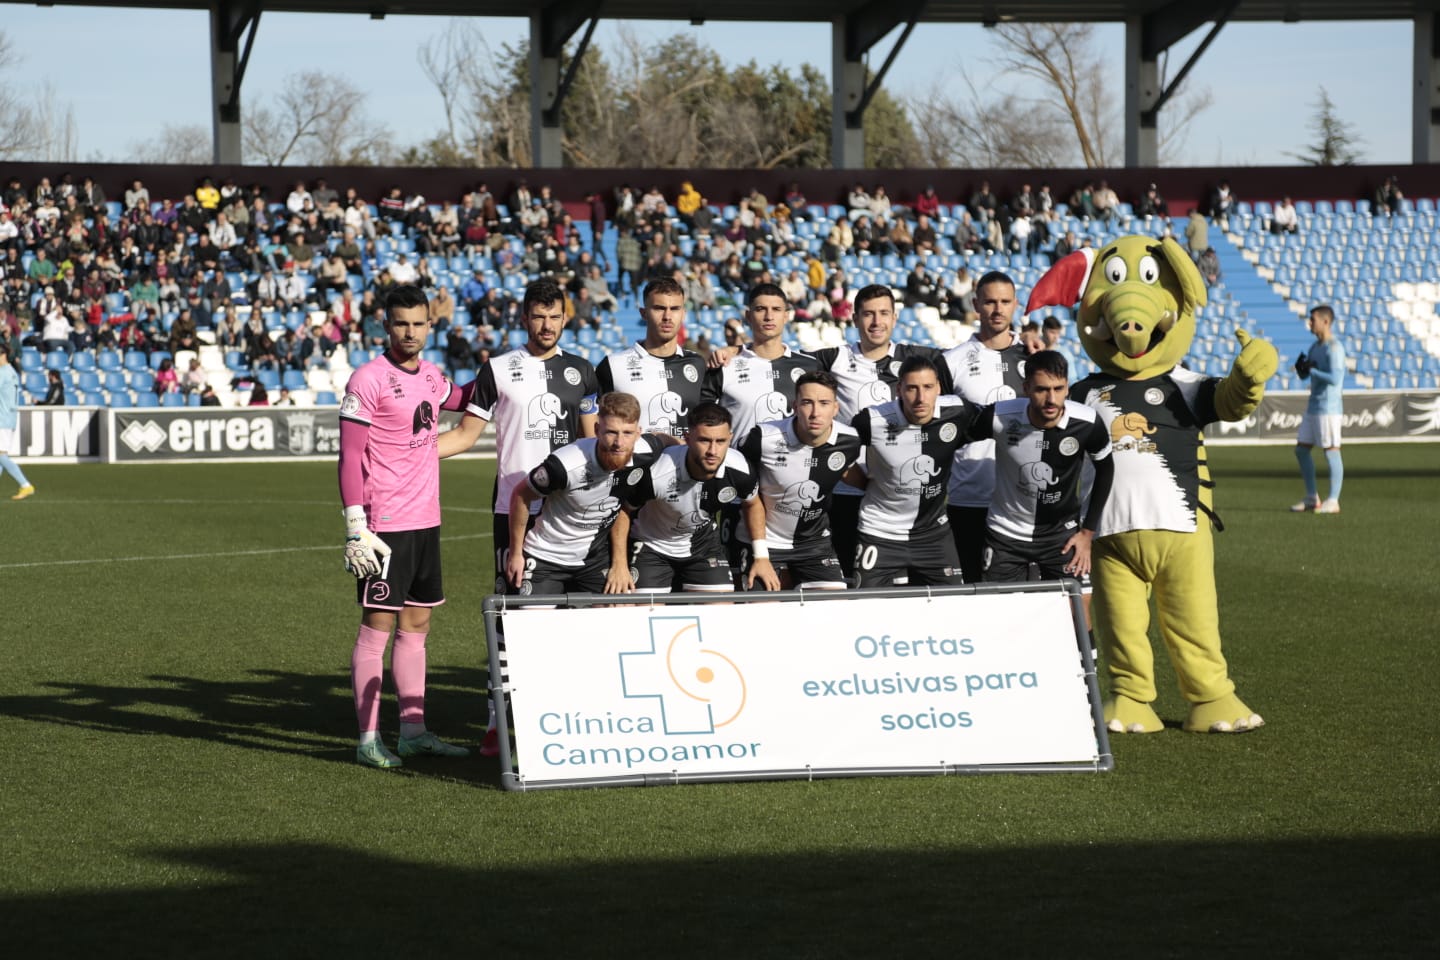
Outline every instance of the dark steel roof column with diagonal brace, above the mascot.
[[(1175, 0), (1164, 7), (1125, 20), (1125, 166), (1159, 166), (1159, 115), (1179, 89), (1191, 68), (1230, 22), (1240, 0)], [(1215, 24), (1195, 52), (1161, 89), (1161, 53), (1208, 20)]]

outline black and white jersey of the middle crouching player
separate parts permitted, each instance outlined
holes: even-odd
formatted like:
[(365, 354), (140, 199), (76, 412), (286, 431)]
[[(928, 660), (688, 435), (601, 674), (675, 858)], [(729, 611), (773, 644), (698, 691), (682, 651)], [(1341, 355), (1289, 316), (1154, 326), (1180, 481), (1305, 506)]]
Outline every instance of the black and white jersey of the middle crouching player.
[[(765, 538), (772, 550), (805, 550), (829, 543), (829, 504), (835, 485), (860, 458), (860, 435), (844, 423), (809, 446), (795, 435), (795, 417), (760, 423), (740, 445), (765, 502)], [(750, 543), (742, 522), (739, 538)]]

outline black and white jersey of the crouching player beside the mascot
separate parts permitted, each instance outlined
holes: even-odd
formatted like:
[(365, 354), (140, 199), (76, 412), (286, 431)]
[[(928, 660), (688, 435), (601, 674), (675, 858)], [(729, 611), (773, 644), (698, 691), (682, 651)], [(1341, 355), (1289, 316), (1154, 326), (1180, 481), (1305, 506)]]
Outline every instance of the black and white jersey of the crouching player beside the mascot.
[[(972, 440), (995, 440), (989, 528), (1025, 543), (1064, 541), (1081, 525), (1094, 530), (1115, 476), (1110, 432), (1094, 410), (1073, 400), (1066, 400), (1060, 423), (1045, 429), (1030, 422), (1028, 409), (1027, 397), (982, 407), (966, 432)], [(1094, 486), (1081, 524), (1086, 459), (1094, 463)]]

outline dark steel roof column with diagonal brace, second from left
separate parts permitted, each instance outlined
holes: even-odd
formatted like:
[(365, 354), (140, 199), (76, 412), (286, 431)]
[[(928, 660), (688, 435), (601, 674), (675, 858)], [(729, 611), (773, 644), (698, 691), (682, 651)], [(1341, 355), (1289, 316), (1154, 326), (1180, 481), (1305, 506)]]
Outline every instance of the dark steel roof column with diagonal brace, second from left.
[[(530, 14), (530, 157), (536, 167), (563, 167), (560, 107), (600, 20), (603, 0), (550, 0)], [(560, 76), (564, 45), (589, 20), (570, 68)]]

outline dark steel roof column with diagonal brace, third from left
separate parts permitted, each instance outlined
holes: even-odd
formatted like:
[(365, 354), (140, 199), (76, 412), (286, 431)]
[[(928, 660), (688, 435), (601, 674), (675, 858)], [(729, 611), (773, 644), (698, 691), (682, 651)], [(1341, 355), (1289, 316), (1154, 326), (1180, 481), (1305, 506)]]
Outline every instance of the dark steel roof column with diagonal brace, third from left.
[[(927, 0), (870, 0), (831, 22), (831, 134), (829, 157), (837, 170), (865, 166), (865, 108), (884, 82), (890, 65), (914, 24), (924, 14)], [(865, 55), (887, 33), (906, 24), (874, 79), (865, 83)]]

